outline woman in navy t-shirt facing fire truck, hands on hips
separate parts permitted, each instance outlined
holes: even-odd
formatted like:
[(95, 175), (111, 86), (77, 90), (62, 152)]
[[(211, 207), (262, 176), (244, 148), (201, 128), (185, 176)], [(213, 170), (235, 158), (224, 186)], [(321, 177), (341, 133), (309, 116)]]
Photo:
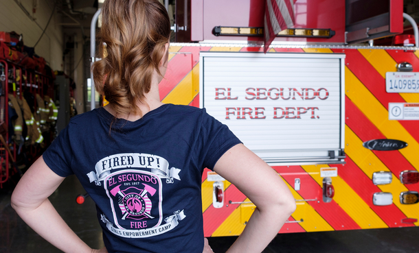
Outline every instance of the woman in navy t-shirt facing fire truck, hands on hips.
[[(216, 171), (256, 204), (228, 252), (262, 252), (295, 210), (271, 167), (204, 109), (162, 104), (170, 21), (157, 0), (107, 0), (95, 86), (108, 106), (73, 117), (25, 173), (12, 206), (65, 252), (212, 252), (201, 176)], [(106, 248), (91, 250), (48, 201), (76, 174), (95, 201)]]

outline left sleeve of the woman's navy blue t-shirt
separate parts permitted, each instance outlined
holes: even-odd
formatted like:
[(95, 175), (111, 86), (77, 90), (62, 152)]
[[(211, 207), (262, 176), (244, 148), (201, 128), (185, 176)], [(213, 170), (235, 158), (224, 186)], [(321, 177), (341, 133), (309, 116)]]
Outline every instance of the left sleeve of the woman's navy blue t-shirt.
[(49, 169), (52, 169), (58, 176), (62, 177), (73, 174), (73, 170), (71, 169), (73, 152), (70, 145), (69, 125), (64, 130), (61, 130), (58, 137), (43, 153), (43, 159)]

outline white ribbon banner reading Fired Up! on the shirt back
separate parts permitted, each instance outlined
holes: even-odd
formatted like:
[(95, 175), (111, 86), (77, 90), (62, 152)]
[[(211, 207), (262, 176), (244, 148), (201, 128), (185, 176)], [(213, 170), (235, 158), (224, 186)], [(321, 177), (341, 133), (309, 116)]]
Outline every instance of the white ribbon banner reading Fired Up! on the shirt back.
[(87, 173), (90, 182), (101, 185), (106, 176), (109, 176), (111, 170), (121, 168), (141, 168), (150, 169), (151, 173), (159, 178), (166, 178), (166, 183), (173, 183), (173, 179), (181, 180), (179, 172), (181, 169), (171, 167), (169, 162), (161, 156), (152, 154), (126, 153), (107, 156), (96, 163), (95, 171)]

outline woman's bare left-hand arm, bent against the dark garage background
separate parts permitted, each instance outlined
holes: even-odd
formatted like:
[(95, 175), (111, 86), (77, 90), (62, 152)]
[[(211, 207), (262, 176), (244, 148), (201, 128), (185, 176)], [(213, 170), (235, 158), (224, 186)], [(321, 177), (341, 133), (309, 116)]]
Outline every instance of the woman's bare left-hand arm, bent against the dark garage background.
[(14, 189), (12, 207), (27, 225), (63, 252), (96, 252), (69, 228), (48, 200), (63, 180), (41, 156)]

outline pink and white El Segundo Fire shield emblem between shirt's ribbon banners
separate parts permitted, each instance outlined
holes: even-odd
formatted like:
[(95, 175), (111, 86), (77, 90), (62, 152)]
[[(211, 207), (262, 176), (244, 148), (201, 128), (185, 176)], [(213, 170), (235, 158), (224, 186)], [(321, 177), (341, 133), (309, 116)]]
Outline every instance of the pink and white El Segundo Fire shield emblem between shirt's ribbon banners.
[(161, 180), (148, 171), (122, 169), (105, 180), (115, 226), (143, 229), (162, 220)]

